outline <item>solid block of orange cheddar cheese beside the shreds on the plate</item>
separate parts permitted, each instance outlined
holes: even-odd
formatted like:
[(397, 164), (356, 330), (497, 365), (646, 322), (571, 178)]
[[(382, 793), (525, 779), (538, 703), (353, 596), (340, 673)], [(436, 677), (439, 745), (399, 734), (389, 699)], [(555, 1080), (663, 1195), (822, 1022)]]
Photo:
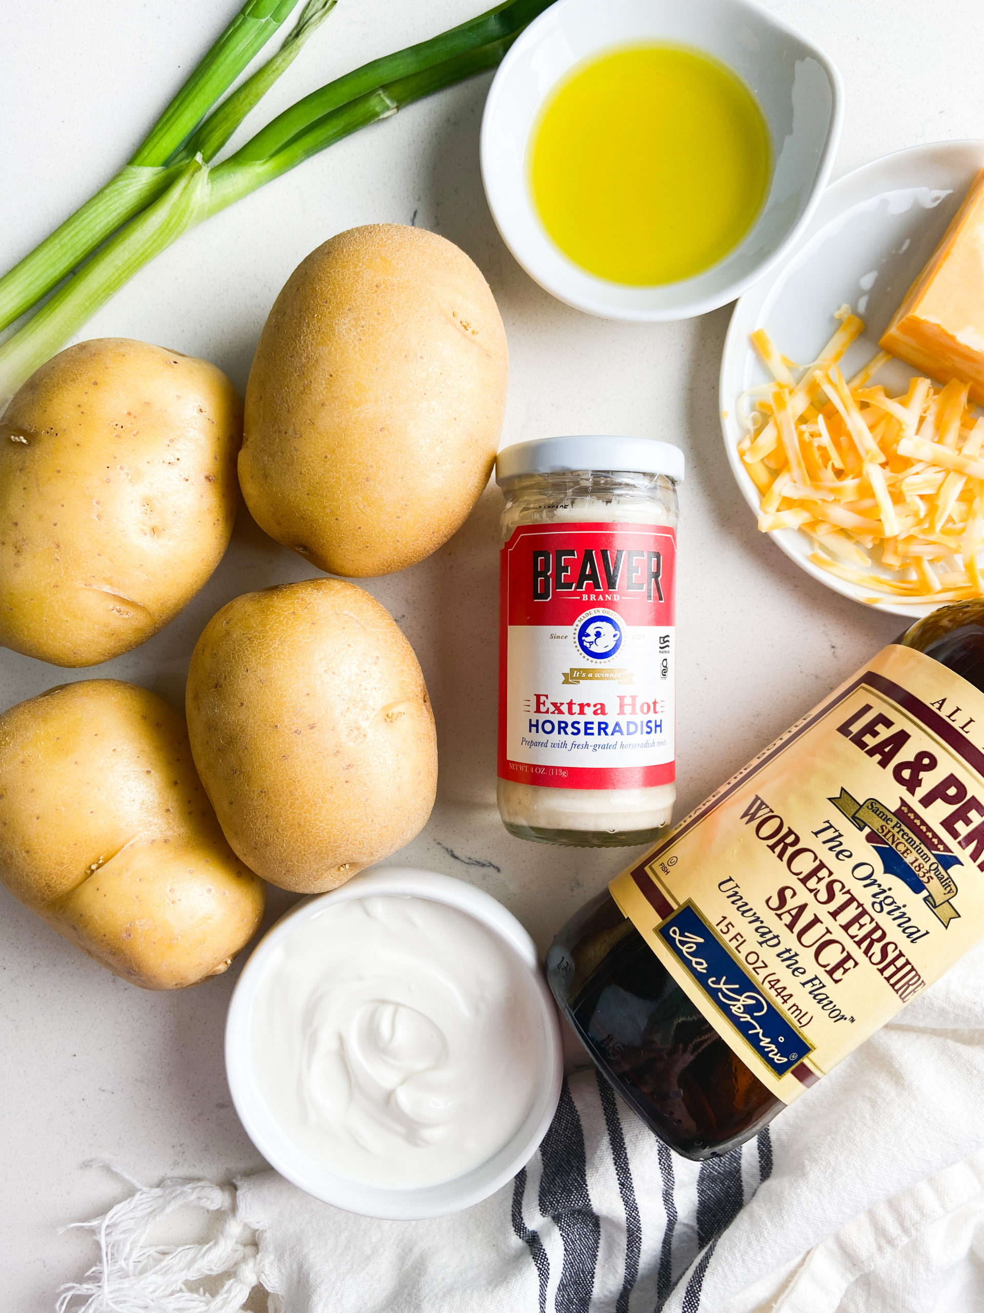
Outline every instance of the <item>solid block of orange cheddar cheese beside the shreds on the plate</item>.
[(984, 171), (879, 345), (941, 383), (970, 383), (984, 404)]

